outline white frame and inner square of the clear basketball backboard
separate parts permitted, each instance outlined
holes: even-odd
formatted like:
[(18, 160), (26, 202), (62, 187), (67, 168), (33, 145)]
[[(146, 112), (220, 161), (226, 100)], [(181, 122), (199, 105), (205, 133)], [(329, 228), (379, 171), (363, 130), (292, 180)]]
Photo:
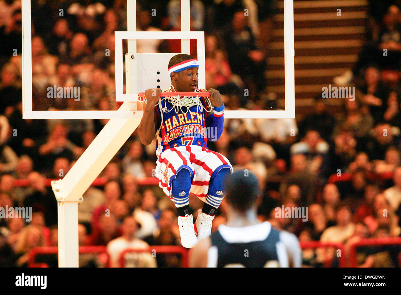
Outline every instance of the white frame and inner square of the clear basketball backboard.
[[(185, 1), (183, 1), (185, 2)], [(188, 4), (185, 4), (189, 6)], [(136, 15), (135, 1), (128, 1), (128, 17)], [(135, 12), (135, 13), (132, 13)], [(134, 17), (132, 17), (134, 18)], [(137, 53), (137, 39), (181, 39), (188, 41), (188, 47), (182, 47), (182, 53), (189, 51), (189, 40), (196, 39), (198, 49), (199, 87), (205, 88), (205, 41), (204, 32), (189, 31), (189, 9), (183, 13), (182, 31), (179, 32), (137, 32), (136, 21), (131, 20), (128, 32), (115, 32), (115, 102), (123, 102), (117, 109), (96, 110), (55, 110), (47, 108), (37, 110), (32, 98), (32, 31), (31, 0), (22, 3), (22, 65), (23, 65), (23, 118), (25, 119), (111, 119), (141, 118), (143, 112), (136, 111), (138, 92), (150, 87), (166, 88), (169, 84), (166, 64), (173, 53)], [(293, 1), (284, 1), (284, 61), (285, 61), (285, 110), (226, 110), (225, 118), (294, 118), (294, 13)], [(122, 40), (128, 40), (128, 53), (123, 59)], [(125, 65), (125, 69), (124, 69)], [(124, 93), (123, 73), (126, 74), (126, 93)], [(157, 74), (160, 72), (160, 74)], [(159, 77), (160, 76), (160, 77)], [(158, 82), (159, 80), (159, 82)], [(79, 86), (77, 86), (79, 88)], [(55, 92), (54, 90), (50, 91)], [(67, 95), (68, 94), (67, 90)], [(64, 91), (64, 95), (66, 92)], [(55, 97), (53, 96), (51, 98)], [(71, 90), (72, 95), (72, 90)], [(42, 95), (43, 96), (43, 95)], [(49, 96), (48, 96), (49, 97)], [(61, 95), (63, 97), (63, 95)], [(68, 96), (70, 98), (70, 96)], [(46, 99), (46, 98), (45, 98)], [(51, 104), (51, 102), (49, 102)]]

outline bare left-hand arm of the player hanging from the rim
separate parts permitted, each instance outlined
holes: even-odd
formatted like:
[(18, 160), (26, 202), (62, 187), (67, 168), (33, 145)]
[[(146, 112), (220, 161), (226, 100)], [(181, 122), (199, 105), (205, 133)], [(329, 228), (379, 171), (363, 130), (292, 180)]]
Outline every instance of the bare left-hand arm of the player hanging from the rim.
[(138, 136), (144, 145), (151, 144), (156, 134), (158, 117), (154, 106), (159, 101), (161, 92), (162, 90), (160, 88), (145, 90), (147, 102), (144, 102), (144, 115), (138, 126)]

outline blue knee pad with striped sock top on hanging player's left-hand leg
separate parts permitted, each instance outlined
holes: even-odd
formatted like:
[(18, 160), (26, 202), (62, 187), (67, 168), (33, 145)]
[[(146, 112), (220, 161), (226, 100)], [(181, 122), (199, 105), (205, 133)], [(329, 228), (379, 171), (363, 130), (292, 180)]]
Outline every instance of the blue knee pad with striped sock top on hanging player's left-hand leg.
[(182, 165), (171, 177), (170, 187), (176, 206), (181, 207), (189, 203), (189, 191), (193, 177), (194, 173), (187, 165)]

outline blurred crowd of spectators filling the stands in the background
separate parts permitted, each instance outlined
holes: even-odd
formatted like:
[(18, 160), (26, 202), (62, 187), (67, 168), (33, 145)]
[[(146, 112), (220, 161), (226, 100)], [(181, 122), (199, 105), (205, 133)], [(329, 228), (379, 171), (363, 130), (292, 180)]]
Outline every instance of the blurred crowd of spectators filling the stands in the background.
[[(138, 31), (180, 30), (179, 2), (138, 0)], [(207, 88), (221, 92), (226, 109), (256, 108), (265, 87), (268, 47), (261, 32), (269, 27), (274, 1), (190, 3), (191, 29), (207, 33)], [(396, 28), (397, 9), (389, 5), (377, 26), (384, 30), (391, 18), (398, 20), (393, 25)], [(31, 248), (57, 246), (57, 202), (46, 179), (62, 178), (107, 120), (23, 120), (20, 1), (0, 0), (0, 16), (0, 38), (7, 40), (0, 49), (0, 207), (32, 208), (30, 222), (0, 219), (0, 266), (23, 267)], [(113, 32), (126, 27), (124, 0), (32, 1), (34, 108), (115, 110)], [(138, 41), (142, 52), (174, 52), (179, 46)], [(13, 55), (14, 49), (18, 54)], [(364, 61), (358, 67), (358, 91), (344, 98), (341, 112), (330, 112), (328, 102), (318, 94), (313, 110), (298, 122), (226, 119), (219, 140), (208, 142), (234, 169), (248, 169), (257, 176), (263, 196), (260, 220), (294, 232), (302, 242), (349, 246), (362, 238), (400, 236), (399, 80), (383, 80), (379, 66), (372, 63)], [(47, 98), (46, 89), (53, 84), (81, 87), (81, 100)], [(249, 97), (243, 95), (245, 88)], [(260, 106), (276, 109), (277, 103), (269, 100)], [(154, 178), (154, 147), (155, 142), (142, 145), (134, 132), (99, 176), (105, 184), (89, 187), (79, 204), (79, 244), (107, 246), (113, 266), (127, 247), (180, 244), (174, 203), (158, 185), (138, 184)], [(28, 185), (18, 186), (16, 179), (26, 179)], [(190, 196), (194, 218), (202, 205)], [(308, 208), (308, 221), (277, 218), (275, 208), (282, 205)], [(223, 200), (213, 230), (225, 222), (226, 213)], [(371, 247), (358, 253), (363, 266), (398, 266), (399, 247)], [(141, 255), (130, 255), (127, 265), (180, 265), (175, 254)], [(304, 265), (319, 267), (332, 257), (330, 250), (305, 250)], [(80, 263), (101, 266), (103, 260), (87, 255)], [(46, 262), (57, 265), (57, 259)]]

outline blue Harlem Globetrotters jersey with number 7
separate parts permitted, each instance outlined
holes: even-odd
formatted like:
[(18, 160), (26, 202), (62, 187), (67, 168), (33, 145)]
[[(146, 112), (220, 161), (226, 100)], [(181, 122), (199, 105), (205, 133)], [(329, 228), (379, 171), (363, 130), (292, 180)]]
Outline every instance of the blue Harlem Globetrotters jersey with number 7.
[[(168, 90), (166, 90), (168, 91)], [(168, 100), (160, 98), (160, 102), (155, 106), (158, 114), (158, 128), (156, 132), (156, 156), (166, 149), (177, 146), (196, 145), (207, 148), (207, 130), (205, 119), (207, 116), (207, 106), (205, 100), (199, 100), (204, 108), (199, 105), (183, 106), (178, 108), (178, 112)], [(187, 112), (188, 110), (188, 112)], [(167, 112), (168, 111), (168, 112)]]

